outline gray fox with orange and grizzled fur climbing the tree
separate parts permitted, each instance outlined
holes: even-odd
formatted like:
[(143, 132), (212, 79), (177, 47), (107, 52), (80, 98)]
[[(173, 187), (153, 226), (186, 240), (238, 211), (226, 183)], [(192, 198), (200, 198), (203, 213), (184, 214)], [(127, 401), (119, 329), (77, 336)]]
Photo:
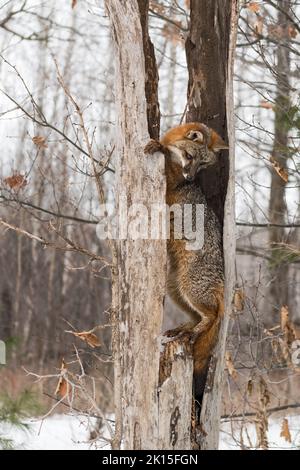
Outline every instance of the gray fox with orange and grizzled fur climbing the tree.
[(217, 340), (223, 314), (224, 266), (222, 230), (208, 207), (197, 174), (213, 165), (217, 152), (228, 146), (204, 124), (191, 122), (168, 131), (160, 141), (151, 140), (145, 153), (165, 155), (167, 178), (166, 202), (204, 205), (204, 244), (199, 250), (187, 250), (184, 239), (171, 237), (168, 251), (168, 293), (193, 323), (179, 327), (168, 335), (183, 333), (194, 341), (194, 395), (201, 401), (207, 366)]

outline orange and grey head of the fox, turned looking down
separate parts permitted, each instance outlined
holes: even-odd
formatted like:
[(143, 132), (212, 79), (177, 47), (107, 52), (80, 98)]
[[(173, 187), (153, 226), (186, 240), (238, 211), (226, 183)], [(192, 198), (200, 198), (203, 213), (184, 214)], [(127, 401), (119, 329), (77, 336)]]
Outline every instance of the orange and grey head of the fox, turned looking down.
[(213, 129), (198, 122), (174, 127), (160, 142), (168, 149), (172, 163), (182, 169), (187, 181), (193, 181), (200, 170), (213, 165), (219, 150), (228, 149)]

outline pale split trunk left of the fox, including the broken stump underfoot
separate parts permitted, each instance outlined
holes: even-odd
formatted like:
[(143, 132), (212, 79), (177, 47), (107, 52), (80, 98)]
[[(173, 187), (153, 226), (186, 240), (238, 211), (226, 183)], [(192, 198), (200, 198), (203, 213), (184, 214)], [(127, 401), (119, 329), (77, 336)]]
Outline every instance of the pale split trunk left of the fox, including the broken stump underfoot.
[[(164, 159), (143, 148), (159, 135), (157, 69), (148, 0), (109, 0), (116, 44), (116, 199), (165, 203)], [(146, 73), (145, 73), (146, 71)], [(148, 116), (148, 119), (147, 119)], [(130, 222), (130, 220), (129, 220)], [(125, 449), (189, 449), (192, 352), (167, 343), (161, 357), (166, 243), (124, 239), (113, 276), (116, 438)], [(161, 363), (161, 370), (160, 370)]]

